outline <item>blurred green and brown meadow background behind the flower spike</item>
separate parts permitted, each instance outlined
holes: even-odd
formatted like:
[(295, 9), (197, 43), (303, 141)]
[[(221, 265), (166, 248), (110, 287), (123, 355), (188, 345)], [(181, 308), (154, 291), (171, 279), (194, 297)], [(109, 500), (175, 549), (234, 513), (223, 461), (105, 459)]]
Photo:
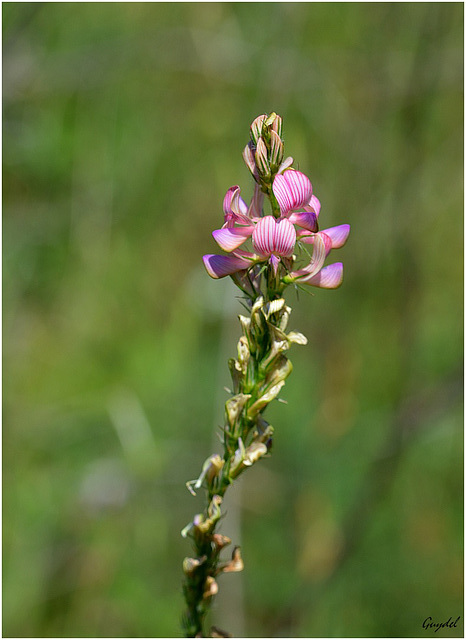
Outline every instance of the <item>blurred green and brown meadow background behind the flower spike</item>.
[(4, 3), (3, 635), (177, 637), (241, 307), (201, 256), (260, 113), (350, 223), (290, 291), (237, 636), (463, 635), (463, 4)]

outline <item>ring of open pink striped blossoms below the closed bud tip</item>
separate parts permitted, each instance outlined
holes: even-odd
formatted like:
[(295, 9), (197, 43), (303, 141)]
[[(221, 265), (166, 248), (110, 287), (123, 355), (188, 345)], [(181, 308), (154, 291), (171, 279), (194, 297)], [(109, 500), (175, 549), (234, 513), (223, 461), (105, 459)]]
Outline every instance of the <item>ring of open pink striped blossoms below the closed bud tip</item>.
[[(231, 187), (224, 198), (224, 224), (212, 235), (221, 249), (229, 255), (205, 255), (204, 265), (212, 278), (223, 278), (238, 272), (246, 272), (253, 265), (268, 261), (277, 274), (281, 261), (291, 268), (296, 243), (313, 245), (312, 257), (302, 269), (288, 271), (285, 283), (303, 283), (334, 289), (343, 279), (340, 262), (324, 267), (332, 249), (342, 247), (350, 231), (347, 224), (318, 231), (320, 202), (312, 193), (309, 178), (294, 169), (284, 169), (275, 176), (272, 190), (280, 207), (280, 218), (262, 216), (264, 194), (256, 185), (248, 207), (240, 195), (238, 186)], [(298, 227), (298, 229), (295, 229)], [(240, 249), (252, 238), (254, 253)]]

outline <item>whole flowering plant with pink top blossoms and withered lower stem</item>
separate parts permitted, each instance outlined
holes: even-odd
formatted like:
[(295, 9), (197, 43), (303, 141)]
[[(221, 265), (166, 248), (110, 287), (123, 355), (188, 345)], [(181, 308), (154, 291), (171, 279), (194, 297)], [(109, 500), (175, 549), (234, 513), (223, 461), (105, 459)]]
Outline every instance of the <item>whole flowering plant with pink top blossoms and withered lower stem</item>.
[[(238, 546), (229, 559), (221, 558), (231, 544), (217, 530), (223, 497), (236, 478), (270, 452), (274, 430), (264, 412), (291, 373), (286, 352), (293, 343), (307, 343), (301, 333), (287, 333), (291, 309), (285, 289), (339, 287), (342, 263), (324, 263), (332, 249), (345, 244), (350, 231), (348, 224), (319, 230), (320, 202), (309, 178), (293, 168), (293, 158), (284, 157), (279, 115), (254, 120), (243, 158), (255, 181), (252, 200), (248, 206), (239, 186), (228, 189), (223, 225), (212, 233), (224, 253), (203, 257), (212, 278), (233, 279), (248, 315), (239, 315), (238, 353), (228, 362), (233, 388), (225, 403), (223, 456), (211, 455), (199, 477), (187, 483), (192, 494), (203, 490), (206, 496), (204, 512), (182, 531), (194, 547), (193, 556), (183, 562), (187, 637), (205, 637), (205, 617), (218, 592), (219, 575), (243, 569)], [(266, 200), (270, 213), (264, 211)], [(228, 634), (212, 627), (210, 637)]]

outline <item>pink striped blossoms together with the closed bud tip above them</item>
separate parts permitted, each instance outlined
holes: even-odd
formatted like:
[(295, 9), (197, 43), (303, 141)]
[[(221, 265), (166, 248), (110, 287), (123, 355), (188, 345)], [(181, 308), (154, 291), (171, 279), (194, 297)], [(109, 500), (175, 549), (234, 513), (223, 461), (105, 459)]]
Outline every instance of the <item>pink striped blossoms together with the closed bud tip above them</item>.
[[(290, 283), (335, 289), (342, 283), (343, 265), (324, 266), (324, 262), (332, 249), (345, 244), (350, 226), (319, 231), (320, 202), (309, 178), (292, 168), (293, 158), (283, 161), (280, 135), (281, 118), (276, 114), (259, 116), (252, 123), (251, 141), (243, 157), (256, 181), (254, 195), (247, 206), (239, 186), (228, 189), (223, 200), (224, 224), (212, 233), (226, 255), (205, 255), (204, 265), (212, 278), (232, 276), (242, 288), (246, 282), (253, 287), (257, 274), (270, 265), (280, 284), (278, 293)], [(269, 215), (263, 212), (264, 194), (271, 200)], [(252, 250), (248, 251), (243, 247), (249, 239)], [(309, 256), (306, 245), (312, 246), (312, 255), (297, 269), (295, 252)]]

